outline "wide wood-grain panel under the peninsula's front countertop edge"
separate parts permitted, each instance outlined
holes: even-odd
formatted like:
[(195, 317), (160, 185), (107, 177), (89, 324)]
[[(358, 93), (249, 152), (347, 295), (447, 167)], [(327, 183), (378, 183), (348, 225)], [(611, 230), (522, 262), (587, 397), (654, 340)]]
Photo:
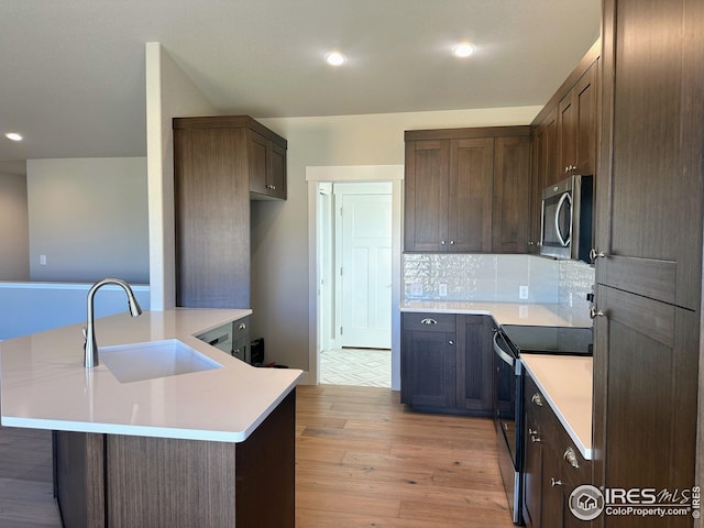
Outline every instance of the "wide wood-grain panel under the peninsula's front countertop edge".
[(108, 526), (234, 526), (237, 447), (109, 435)]

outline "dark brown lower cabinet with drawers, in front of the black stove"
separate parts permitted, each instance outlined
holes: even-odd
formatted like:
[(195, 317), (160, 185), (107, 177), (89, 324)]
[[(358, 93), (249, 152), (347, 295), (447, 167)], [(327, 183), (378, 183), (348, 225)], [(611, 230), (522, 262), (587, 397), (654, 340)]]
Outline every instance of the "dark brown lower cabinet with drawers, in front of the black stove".
[(528, 528), (587, 527), (570, 509), (570, 495), (592, 483), (584, 460), (529, 373), (524, 375), (524, 520)]

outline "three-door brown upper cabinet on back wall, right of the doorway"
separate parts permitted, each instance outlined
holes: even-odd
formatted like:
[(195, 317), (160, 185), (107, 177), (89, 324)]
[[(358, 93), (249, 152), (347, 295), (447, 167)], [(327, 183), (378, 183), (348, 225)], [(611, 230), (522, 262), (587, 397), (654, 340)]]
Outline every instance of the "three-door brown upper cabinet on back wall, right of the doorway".
[(407, 131), (404, 251), (525, 253), (529, 132)]

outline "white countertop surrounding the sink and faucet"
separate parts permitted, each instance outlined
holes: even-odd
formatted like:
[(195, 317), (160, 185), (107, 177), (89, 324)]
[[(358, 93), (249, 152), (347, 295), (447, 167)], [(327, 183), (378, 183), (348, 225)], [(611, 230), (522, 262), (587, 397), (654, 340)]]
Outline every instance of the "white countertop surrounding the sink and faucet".
[(84, 324), (0, 343), (3, 426), (241, 442), (294, 389), (302, 372), (256, 369), (194, 336), (252, 310), (186, 309), (96, 320), (100, 346), (178, 339), (221, 365), (120, 383), (105, 364), (82, 366)]

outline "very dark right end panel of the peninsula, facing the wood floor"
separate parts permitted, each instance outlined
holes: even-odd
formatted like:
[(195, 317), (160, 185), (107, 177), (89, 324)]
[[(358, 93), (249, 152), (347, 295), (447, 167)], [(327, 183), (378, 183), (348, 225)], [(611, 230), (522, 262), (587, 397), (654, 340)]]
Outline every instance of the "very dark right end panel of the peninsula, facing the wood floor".
[(294, 528), (296, 389), (237, 446), (237, 526)]

